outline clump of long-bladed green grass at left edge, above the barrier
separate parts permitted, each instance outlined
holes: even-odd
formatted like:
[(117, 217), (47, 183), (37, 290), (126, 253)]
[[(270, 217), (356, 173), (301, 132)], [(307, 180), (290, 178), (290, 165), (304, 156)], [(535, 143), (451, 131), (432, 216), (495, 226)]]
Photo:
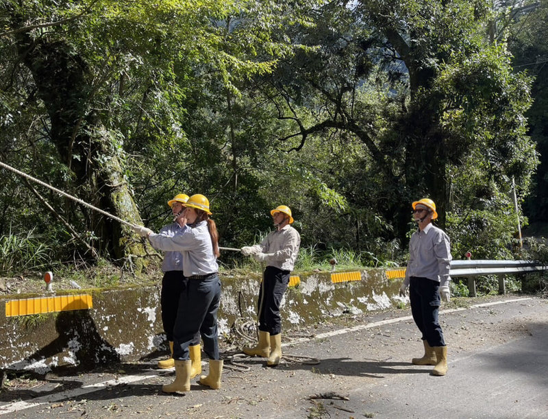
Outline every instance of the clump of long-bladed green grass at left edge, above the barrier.
[(0, 236), (0, 273), (18, 274), (51, 265), (51, 248), (34, 229), (21, 235)]

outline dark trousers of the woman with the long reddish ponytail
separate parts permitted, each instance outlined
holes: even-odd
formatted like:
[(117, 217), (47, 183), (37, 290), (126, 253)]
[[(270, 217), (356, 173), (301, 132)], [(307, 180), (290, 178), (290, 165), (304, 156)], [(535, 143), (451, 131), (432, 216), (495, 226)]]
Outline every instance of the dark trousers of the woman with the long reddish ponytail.
[(173, 328), (173, 358), (190, 359), (188, 346), (203, 340), (203, 352), (209, 359), (219, 358), (217, 311), (221, 302), (221, 280), (218, 275), (205, 279), (188, 279), (179, 300)]

